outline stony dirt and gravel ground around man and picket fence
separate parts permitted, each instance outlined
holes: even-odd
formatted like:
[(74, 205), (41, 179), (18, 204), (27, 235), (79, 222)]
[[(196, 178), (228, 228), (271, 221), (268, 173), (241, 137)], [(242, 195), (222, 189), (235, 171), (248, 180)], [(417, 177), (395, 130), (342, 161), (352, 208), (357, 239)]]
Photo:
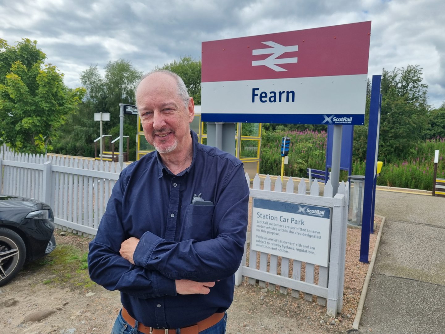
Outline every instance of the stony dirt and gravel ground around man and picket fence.
[[(371, 235), (370, 253), (376, 240)], [(56, 230), (58, 247), (72, 245), (81, 252), (89, 239)], [(228, 310), (227, 333), (347, 333), (352, 328), (368, 264), (358, 261), (360, 229), (348, 228), (343, 312), (337, 318), (326, 315), (326, 307), (315, 301), (267, 291), (243, 282), (235, 288)], [(52, 263), (28, 264), (18, 277), (0, 288), (1, 334), (89, 334), (110, 333), (120, 309), (119, 293), (107, 291), (85, 280), (86, 271), (57, 269)], [(61, 279), (65, 277), (65, 279)], [(40, 314), (36, 314), (36, 312)], [(53, 312), (53, 313), (51, 313)], [(34, 317), (28, 321), (29, 317)], [(41, 320), (38, 320), (41, 319)]]

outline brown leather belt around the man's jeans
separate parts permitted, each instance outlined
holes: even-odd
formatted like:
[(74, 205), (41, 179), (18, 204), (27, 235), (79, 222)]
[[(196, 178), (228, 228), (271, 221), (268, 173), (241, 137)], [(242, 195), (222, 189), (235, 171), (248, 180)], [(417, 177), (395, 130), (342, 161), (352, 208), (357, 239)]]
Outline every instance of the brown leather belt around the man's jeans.
[[(134, 327), (136, 320), (128, 314), (125, 307), (122, 306), (122, 318), (129, 323), (130, 326)], [(198, 321), (196, 325), (182, 327), (181, 334), (198, 334), (199, 332), (206, 330), (207, 328), (216, 325), (222, 318), (224, 313), (214, 313), (209, 318)], [(149, 326), (145, 326), (141, 322), (138, 325), (138, 331), (146, 334), (176, 334), (176, 329), (158, 329)]]

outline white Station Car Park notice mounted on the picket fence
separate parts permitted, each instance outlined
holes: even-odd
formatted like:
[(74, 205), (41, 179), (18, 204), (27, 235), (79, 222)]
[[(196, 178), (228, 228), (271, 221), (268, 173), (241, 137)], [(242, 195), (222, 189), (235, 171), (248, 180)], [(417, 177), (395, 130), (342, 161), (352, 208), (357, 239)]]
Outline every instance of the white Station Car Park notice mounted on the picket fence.
[(331, 208), (254, 198), (251, 249), (328, 266)]

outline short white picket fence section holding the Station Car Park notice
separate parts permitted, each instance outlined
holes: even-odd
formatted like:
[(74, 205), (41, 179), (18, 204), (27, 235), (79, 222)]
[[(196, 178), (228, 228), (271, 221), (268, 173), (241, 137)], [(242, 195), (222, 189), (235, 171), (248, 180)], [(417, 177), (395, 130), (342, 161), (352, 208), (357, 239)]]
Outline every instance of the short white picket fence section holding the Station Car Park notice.
[[(247, 183), (250, 177), (246, 173)], [(311, 263), (303, 264), (298, 259), (277, 257), (273, 254), (249, 251), (247, 264), (247, 244), (252, 240), (246, 240), (244, 256), (240, 268), (235, 274), (235, 284), (239, 285), (243, 277), (249, 277), (251, 284), (258, 284), (275, 290), (275, 285), (280, 286), (281, 293), (287, 293), (287, 288), (292, 289), (291, 294), (299, 297), (299, 291), (304, 293), (307, 301), (312, 301), (312, 295), (317, 296), (320, 305), (327, 305), (327, 313), (334, 316), (341, 312), (343, 307), (344, 265), (346, 255), (346, 232), (348, 218), (349, 184), (340, 183), (336, 196), (332, 197), (333, 189), (330, 180), (324, 187), (323, 196), (320, 195), (318, 182), (313, 182), (310, 195), (306, 195), (306, 182), (301, 179), (298, 184), (298, 193), (294, 193), (294, 182), (289, 178), (286, 191), (282, 192), (281, 179), (277, 177), (275, 191), (271, 191), (271, 179), (267, 175), (263, 189), (260, 188), (260, 178), (257, 174), (250, 189), (250, 195), (254, 198), (284, 201), (298, 204), (316, 205), (332, 208), (331, 244), (328, 267), (316, 266)], [(251, 238), (250, 238), (251, 239)], [(259, 265), (257, 260), (259, 256)], [(269, 259), (269, 260), (268, 260)], [(281, 270), (278, 273), (278, 263), (281, 261)], [(302, 266), (305, 266), (304, 281), (301, 280)], [(318, 267), (318, 284), (314, 283), (314, 276)], [(267, 270), (269, 268), (269, 270)], [(291, 273), (291, 275), (290, 275)]]

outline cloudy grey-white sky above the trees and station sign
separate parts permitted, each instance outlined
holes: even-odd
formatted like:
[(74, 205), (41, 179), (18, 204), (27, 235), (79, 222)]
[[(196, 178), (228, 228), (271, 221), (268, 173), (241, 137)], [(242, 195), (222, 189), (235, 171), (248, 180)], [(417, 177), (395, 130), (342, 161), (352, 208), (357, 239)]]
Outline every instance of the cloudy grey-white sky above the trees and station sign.
[(372, 21), (368, 75), (420, 65), (429, 104), (445, 99), (443, 0), (0, 0), (0, 38), (38, 42), (47, 61), (80, 86), (90, 65), (123, 58), (144, 72), (201, 42)]

